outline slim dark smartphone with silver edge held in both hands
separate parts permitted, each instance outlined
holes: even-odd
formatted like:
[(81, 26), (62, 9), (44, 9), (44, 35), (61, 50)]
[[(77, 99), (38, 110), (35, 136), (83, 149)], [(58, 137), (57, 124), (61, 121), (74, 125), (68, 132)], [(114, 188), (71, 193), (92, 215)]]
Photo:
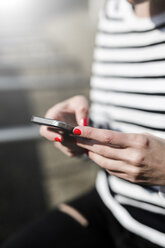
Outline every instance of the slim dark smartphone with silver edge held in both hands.
[(39, 125), (45, 125), (50, 127), (50, 129), (56, 130), (57, 132), (62, 132), (65, 134), (72, 134), (72, 131), (74, 129), (74, 126), (58, 121), (58, 120), (53, 120), (53, 119), (48, 119), (48, 118), (42, 118), (39, 116), (32, 116), (31, 122)]

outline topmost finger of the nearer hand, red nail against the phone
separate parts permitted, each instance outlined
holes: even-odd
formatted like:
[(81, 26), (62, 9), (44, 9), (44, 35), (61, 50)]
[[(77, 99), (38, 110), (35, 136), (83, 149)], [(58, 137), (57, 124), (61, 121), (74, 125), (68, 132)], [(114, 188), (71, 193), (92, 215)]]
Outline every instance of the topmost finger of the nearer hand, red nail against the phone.
[(81, 126), (75, 127), (73, 134), (79, 135), (83, 138), (93, 139), (104, 144), (111, 144), (121, 147), (136, 146), (136, 143), (139, 142), (140, 139), (140, 134), (128, 134), (112, 130)]

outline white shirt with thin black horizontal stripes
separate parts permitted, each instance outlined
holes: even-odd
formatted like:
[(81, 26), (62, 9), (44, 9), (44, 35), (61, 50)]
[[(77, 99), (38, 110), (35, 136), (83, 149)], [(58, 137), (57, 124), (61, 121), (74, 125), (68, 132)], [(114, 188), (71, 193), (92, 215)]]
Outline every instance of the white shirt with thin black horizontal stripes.
[[(92, 125), (165, 138), (165, 12), (138, 18), (126, 0), (100, 13), (91, 77)], [(165, 247), (165, 187), (98, 173), (97, 190), (131, 232)], [(165, 190), (164, 190), (165, 191)]]

